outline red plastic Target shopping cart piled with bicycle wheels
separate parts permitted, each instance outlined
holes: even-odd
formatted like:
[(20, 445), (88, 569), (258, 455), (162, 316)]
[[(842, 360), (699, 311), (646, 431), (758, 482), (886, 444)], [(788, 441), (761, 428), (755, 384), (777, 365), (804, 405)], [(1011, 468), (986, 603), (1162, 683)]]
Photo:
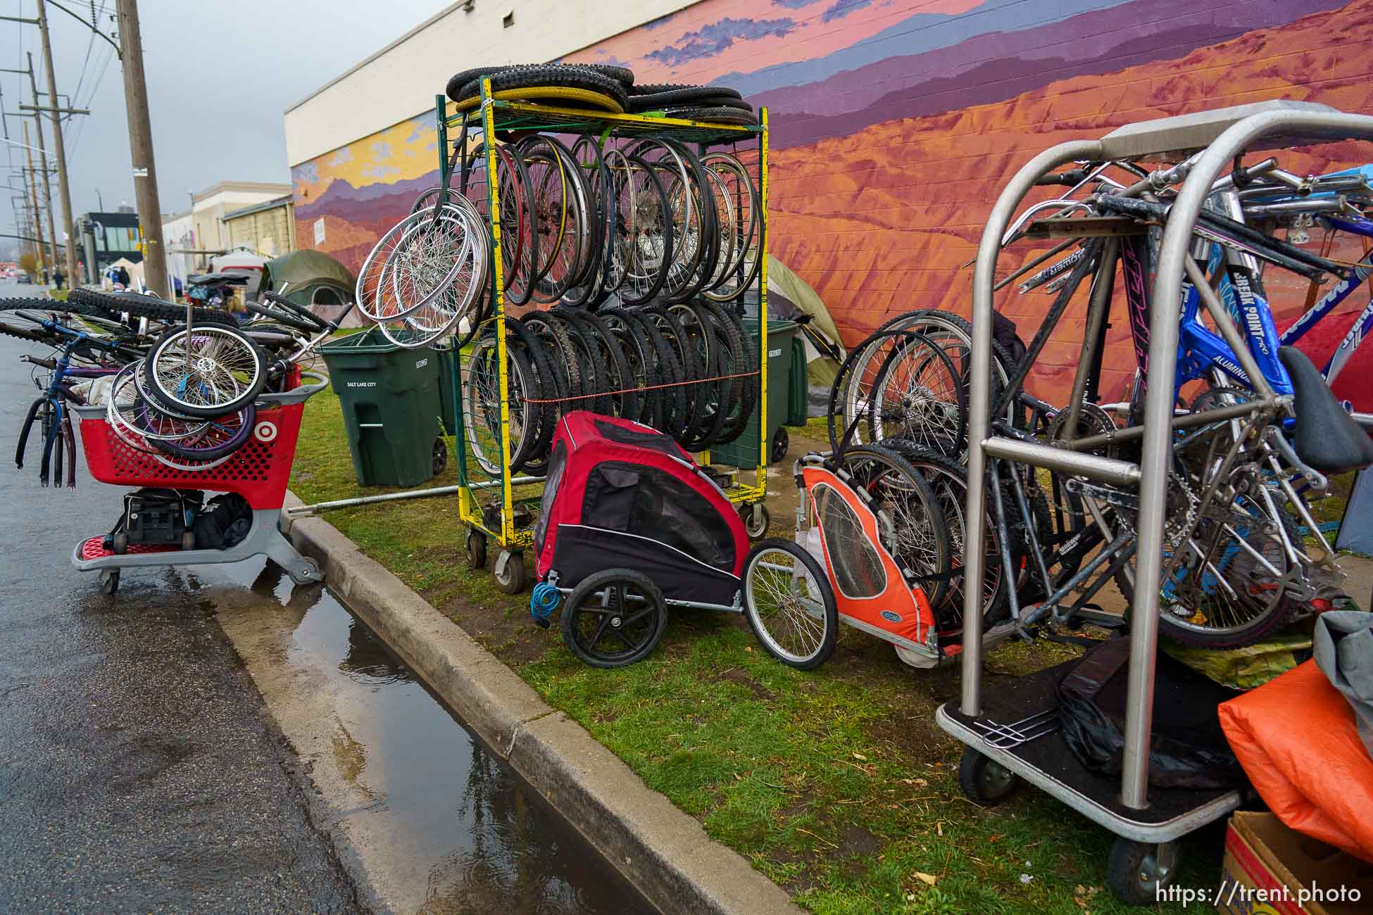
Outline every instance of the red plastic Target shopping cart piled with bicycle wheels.
[(103, 405), (73, 406), (81, 420), (81, 449), (85, 451), (86, 466), (100, 483), (130, 488), (238, 492), (251, 506), (253, 523), (243, 540), (224, 550), (130, 545), (126, 553), (114, 553), (104, 549), (104, 535), (97, 534), (76, 545), (71, 564), (82, 572), (99, 572), (100, 590), (106, 594), (114, 594), (119, 589), (121, 569), (238, 562), (254, 556), (270, 558), (297, 584), (323, 582), (324, 573), (314, 560), (301, 556), (280, 527), (305, 402), (328, 387), (328, 379), (323, 375), (301, 375), (309, 377), (310, 383), (281, 394), (261, 395), (251, 438), (227, 461), (203, 471), (173, 468), (152, 454), (129, 447), (106, 423)]

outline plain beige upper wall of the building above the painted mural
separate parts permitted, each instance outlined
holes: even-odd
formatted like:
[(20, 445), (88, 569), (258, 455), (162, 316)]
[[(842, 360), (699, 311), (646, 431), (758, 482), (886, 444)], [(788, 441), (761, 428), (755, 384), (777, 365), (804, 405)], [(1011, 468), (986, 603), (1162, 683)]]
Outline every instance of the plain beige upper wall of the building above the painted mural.
[(287, 108), (287, 163), (431, 111), (465, 67), (556, 60), (696, 1), (461, 0)]

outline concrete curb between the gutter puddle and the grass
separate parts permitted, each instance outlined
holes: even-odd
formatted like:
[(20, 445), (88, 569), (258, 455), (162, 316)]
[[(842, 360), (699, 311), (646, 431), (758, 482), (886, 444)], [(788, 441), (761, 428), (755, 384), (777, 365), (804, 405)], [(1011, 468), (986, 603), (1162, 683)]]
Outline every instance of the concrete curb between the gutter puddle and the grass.
[[(287, 495), (288, 506), (299, 503)], [(800, 912), (780, 886), (706, 835), (696, 819), (332, 524), (295, 519), (287, 536), (320, 564), (349, 609), (660, 911)]]

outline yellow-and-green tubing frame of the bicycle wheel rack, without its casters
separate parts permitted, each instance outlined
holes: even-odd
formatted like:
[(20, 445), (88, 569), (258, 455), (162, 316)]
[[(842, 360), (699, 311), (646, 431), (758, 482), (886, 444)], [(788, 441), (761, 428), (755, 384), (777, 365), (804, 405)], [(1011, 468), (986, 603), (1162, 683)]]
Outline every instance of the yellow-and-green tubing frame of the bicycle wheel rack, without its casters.
[[(758, 273), (759, 284), (759, 314), (758, 314), (758, 388), (759, 388), (759, 406), (758, 406), (758, 468), (757, 480), (754, 486), (737, 484), (725, 491), (726, 498), (735, 505), (751, 505), (754, 502), (761, 502), (768, 495), (768, 240), (769, 240), (769, 219), (768, 219), (768, 159), (769, 159), (769, 128), (768, 128), (768, 108), (758, 110), (758, 128), (747, 128), (737, 125), (715, 125), (699, 121), (684, 121), (680, 118), (652, 118), (644, 115), (633, 114), (605, 114), (596, 111), (584, 111), (574, 108), (559, 108), (552, 106), (529, 106), (518, 102), (504, 102), (494, 99), (492, 95), (490, 78), (483, 77), (481, 84), (481, 129), (482, 137), (486, 148), (486, 188), (487, 188), (487, 210), (490, 213), (490, 226), (492, 226), (492, 296), (496, 303), (496, 347), (497, 347), (497, 362), (500, 375), (500, 402), (501, 402), (501, 479), (498, 482), (492, 480), (487, 483), (471, 483), (467, 475), (467, 440), (465, 440), (465, 424), (463, 421), (463, 407), (461, 407), (461, 354), (453, 353), (453, 413), (454, 423), (453, 431), (456, 436), (456, 450), (457, 450), (457, 471), (459, 471), (459, 516), (471, 528), (486, 532), (489, 536), (494, 538), (503, 549), (518, 549), (522, 546), (529, 546), (533, 538), (529, 531), (515, 530), (515, 502), (511, 492), (514, 486), (520, 486), (524, 483), (538, 483), (538, 477), (511, 477), (511, 458), (509, 458), (509, 373), (507, 364), (507, 328), (505, 328), (505, 283), (504, 283), (504, 248), (501, 244), (501, 225), (500, 225), (500, 187), (497, 176), (497, 159), (496, 159), (496, 110), (505, 110), (511, 112), (524, 112), (524, 114), (541, 114), (548, 115), (552, 121), (559, 118), (575, 118), (578, 121), (586, 121), (595, 125), (601, 125), (604, 133), (608, 136), (614, 132), (616, 125), (645, 128), (651, 133), (652, 130), (670, 132), (680, 128), (695, 128), (695, 129), (710, 129), (717, 132), (718, 136), (710, 139), (706, 145), (714, 145), (719, 143), (728, 143), (735, 140), (743, 140), (748, 137), (758, 139), (758, 195), (759, 207), (762, 210), (759, 219), (759, 239), (758, 257), (762, 258)], [(448, 188), (450, 181), (450, 174), (448, 169), (449, 163), (449, 114), (448, 114), (448, 99), (442, 95), (434, 97), (434, 112), (437, 119), (438, 130), (438, 158), (439, 158), (439, 187)], [(459, 115), (461, 117), (461, 115)], [(471, 126), (478, 126), (472, 123)], [(551, 132), (556, 132), (560, 126), (568, 128), (568, 125), (549, 123), (545, 128)], [(582, 125), (586, 126), (586, 125)], [(571, 129), (571, 128), (568, 128)], [(737, 134), (737, 136), (735, 136)], [(454, 143), (465, 144), (468, 140), (467, 133), (461, 137), (454, 139)], [(704, 453), (708, 457), (708, 451)], [(472, 498), (472, 490), (476, 488), (494, 488), (496, 486), (501, 488), (501, 524), (498, 531), (493, 531), (486, 525), (485, 519)]]

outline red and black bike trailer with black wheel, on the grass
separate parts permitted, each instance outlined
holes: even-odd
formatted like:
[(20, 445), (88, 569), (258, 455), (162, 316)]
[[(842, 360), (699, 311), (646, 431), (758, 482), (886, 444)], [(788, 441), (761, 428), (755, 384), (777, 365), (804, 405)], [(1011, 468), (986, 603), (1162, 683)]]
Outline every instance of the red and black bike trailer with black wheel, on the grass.
[(559, 423), (534, 527), (530, 610), (548, 626), (563, 604), (563, 638), (584, 661), (645, 657), (669, 606), (743, 612), (747, 553), (729, 498), (669, 436), (585, 410)]

